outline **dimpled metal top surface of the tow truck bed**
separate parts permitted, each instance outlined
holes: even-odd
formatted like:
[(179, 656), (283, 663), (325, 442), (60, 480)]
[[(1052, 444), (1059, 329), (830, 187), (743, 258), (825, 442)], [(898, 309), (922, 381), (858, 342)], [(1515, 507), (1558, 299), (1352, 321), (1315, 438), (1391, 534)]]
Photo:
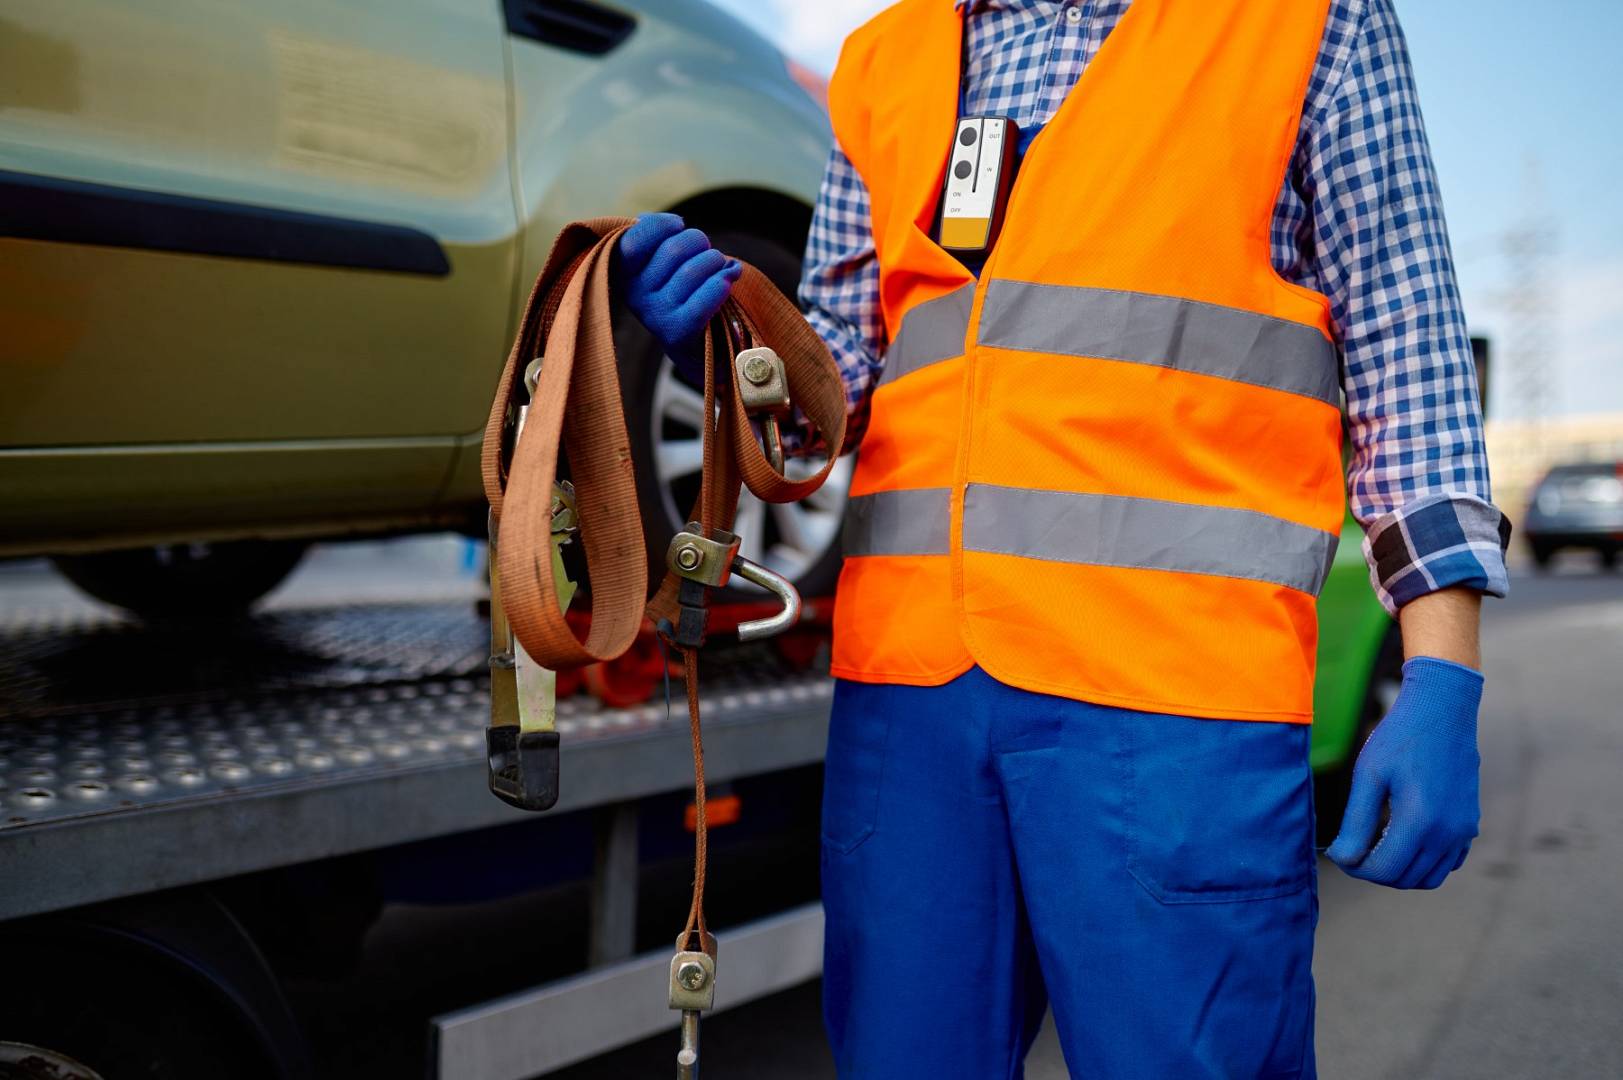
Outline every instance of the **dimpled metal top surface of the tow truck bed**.
[[(469, 604), (276, 612), (217, 627), (0, 632), (0, 832), (482, 760), (489, 627)], [(708, 663), (706, 721), (826, 702), (769, 650)], [(672, 690), (680, 695), (680, 684)], [(664, 698), (558, 703), (565, 739), (685, 728)]]

